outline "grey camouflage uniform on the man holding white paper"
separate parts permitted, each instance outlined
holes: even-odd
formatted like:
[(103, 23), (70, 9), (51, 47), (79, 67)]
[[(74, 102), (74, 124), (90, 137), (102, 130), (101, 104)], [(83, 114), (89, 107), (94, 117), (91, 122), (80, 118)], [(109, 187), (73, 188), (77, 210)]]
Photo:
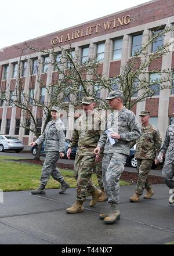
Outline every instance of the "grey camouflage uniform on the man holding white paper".
[(107, 129), (118, 128), (121, 139), (115, 140), (111, 146), (106, 132), (100, 137), (97, 144), (102, 148), (104, 145), (104, 157), (102, 163), (102, 175), (104, 189), (108, 203), (119, 203), (119, 178), (124, 171), (126, 158), (129, 156), (130, 142), (137, 139), (141, 134), (139, 122), (131, 110), (123, 107), (122, 110), (111, 113), (107, 120)]

